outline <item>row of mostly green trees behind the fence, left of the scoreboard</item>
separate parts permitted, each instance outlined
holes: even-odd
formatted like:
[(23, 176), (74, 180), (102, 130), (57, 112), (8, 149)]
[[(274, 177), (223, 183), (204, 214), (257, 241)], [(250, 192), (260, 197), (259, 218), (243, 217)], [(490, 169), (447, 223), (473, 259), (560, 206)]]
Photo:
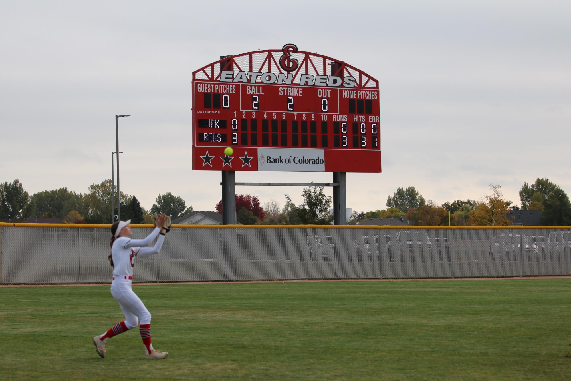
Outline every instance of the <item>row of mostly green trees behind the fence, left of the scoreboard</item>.
[[(112, 200), (112, 194), (115, 199)], [(115, 203), (117, 215), (117, 187), (112, 187), (111, 179), (91, 184), (86, 193), (76, 193), (66, 187), (42, 192), (29, 193), (19, 179), (0, 184), (0, 219), (57, 218), (65, 223), (111, 223), (111, 206)], [(159, 194), (150, 210), (143, 208), (135, 195), (121, 191), (120, 199), (126, 204), (121, 207), (121, 219), (131, 219), (131, 223), (151, 223), (151, 215), (164, 213), (178, 218), (190, 213), (192, 206), (170, 192)]]

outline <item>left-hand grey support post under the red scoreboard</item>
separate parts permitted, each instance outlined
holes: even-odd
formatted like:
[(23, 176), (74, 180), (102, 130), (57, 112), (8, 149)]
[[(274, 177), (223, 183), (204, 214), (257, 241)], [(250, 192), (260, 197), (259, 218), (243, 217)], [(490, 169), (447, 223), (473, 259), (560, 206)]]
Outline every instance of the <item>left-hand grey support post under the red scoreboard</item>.
[[(236, 224), (236, 173), (222, 171), (222, 224)], [(236, 280), (236, 230), (223, 229), (224, 280)]]

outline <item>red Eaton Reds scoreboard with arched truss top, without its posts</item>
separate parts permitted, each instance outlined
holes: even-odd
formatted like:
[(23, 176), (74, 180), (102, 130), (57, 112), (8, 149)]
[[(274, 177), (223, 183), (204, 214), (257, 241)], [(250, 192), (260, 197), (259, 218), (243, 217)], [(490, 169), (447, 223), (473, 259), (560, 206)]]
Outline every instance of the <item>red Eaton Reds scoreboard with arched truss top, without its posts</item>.
[[(196, 70), (192, 169), (380, 172), (379, 85), (292, 44)], [(232, 147), (232, 155), (224, 154)]]

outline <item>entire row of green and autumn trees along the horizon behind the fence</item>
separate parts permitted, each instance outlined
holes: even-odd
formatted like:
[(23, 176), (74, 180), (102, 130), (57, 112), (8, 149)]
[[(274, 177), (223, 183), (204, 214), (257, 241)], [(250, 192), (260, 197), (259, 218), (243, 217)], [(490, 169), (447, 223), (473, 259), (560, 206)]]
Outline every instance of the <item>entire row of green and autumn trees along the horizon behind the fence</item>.
[[(30, 216), (53, 217), (66, 223), (110, 223), (111, 179), (89, 186), (85, 194), (69, 191), (63, 187), (29, 195), (18, 179), (0, 184), (0, 219), (19, 219)], [(114, 188), (116, 194), (116, 186)], [(500, 185), (490, 184), (488, 194), (480, 200), (455, 200), (438, 205), (426, 200), (415, 187), (397, 188), (387, 198), (387, 208), (368, 212), (353, 211), (348, 224), (357, 224), (369, 218), (399, 218), (405, 215), (415, 225), (505, 226), (512, 223), (510, 210), (541, 210), (542, 225), (571, 224), (569, 197), (560, 186), (548, 178), (537, 178), (534, 183), (520, 190), (520, 206), (506, 200)], [(329, 212), (331, 196), (326, 196), (323, 187), (309, 186), (301, 192), (303, 202), (296, 205), (288, 194), (283, 208), (272, 199), (260, 204), (258, 196), (236, 195), (236, 220), (242, 224), (331, 224)], [(170, 192), (159, 194), (150, 210), (140, 206), (135, 195), (121, 192), (127, 204), (121, 207), (121, 219), (132, 223), (151, 223), (151, 215), (165, 213), (172, 219), (186, 215), (194, 209), (186, 206), (179, 196)], [(116, 207), (116, 206), (115, 206)], [(222, 214), (222, 199), (215, 206)], [(116, 214), (116, 209), (115, 209)]]

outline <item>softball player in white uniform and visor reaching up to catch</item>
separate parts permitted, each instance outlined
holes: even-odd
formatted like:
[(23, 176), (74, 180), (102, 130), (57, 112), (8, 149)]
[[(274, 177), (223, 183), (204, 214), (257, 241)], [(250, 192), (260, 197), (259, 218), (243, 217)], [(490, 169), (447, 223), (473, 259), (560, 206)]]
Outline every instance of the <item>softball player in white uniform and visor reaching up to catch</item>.
[[(131, 289), (135, 258), (139, 255), (159, 253), (160, 248), (163, 246), (164, 234), (166, 233), (166, 229), (159, 228), (159, 226), (163, 226), (165, 220), (166, 215), (160, 215), (156, 221), (157, 227), (145, 239), (131, 239), (131, 228), (129, 227), (131, 220), (118, 221), (111, 226), (111, 255), (108, 256), (109, 262), (111, 262), (113, 267), (111, 295), (119, 302), (119, 306), (125, 315), (125, 320), (115, 324), (103, 335), (93, 338), (97, 353), (102, 358), (105, 357), (105, 343), (108, 339), (138, 325), (147, 359), (163, 359), (168, 356), (168, 352), (159, 352), (152, 348), (151, 314)], [(159, 235), (159, 238), (156, 240), (154, 247), (142, 247), (149, 246), (157, 235)]]

